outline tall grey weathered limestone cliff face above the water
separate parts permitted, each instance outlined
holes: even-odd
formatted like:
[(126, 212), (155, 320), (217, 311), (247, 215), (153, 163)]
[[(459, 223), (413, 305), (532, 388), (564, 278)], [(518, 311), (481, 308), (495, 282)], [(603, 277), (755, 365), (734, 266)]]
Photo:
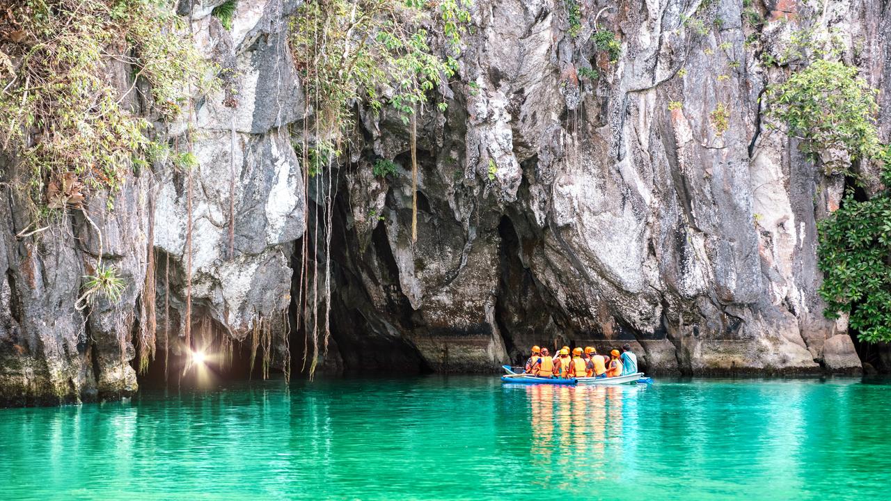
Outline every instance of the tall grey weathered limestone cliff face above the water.
[[(286, 43), (298, 2), (241, 2), (231, 30), (210, 15), (219, 3), (192, 3), (191, 18), (224, 85), (158, 126), (199, 167), (156, 165), (113, 210), (88, 210), (103, 260), (127, 281), (119, 303), (74, 308), (99, 251), (81, 214), (17, 236), (29, 215), (2, 188), (0, 399), (132, 393), (140, 336), (182, 357), (190, 256), (192, 348), (259, 344), (273, 365), (310, 337), (295, 283), (330, 262), (330, 294), (299, 310), (330, 301), (332, 371), (489, 372), (532, 344), (624, 342), (650, 372), (859, 369), (846, 321), (825, 319), (817, 294), (816, 222), (844, 179), (765, 127), (760, 97), (788, 73), (765, 61), (808, 28), (838, 29), (845, 61), (887, 87), (882, 4), (579, 1), (571, 27), (565, 2), (477, 0), (460, 78), (437, 89), (447, 110), (418, 119), (413, 242), (399, 117), (360, 111), (363, 148), (331, 177), (307, 176), (292, 144), (312, 107)], [(595, 29), (615, 34), (616, 61)], [(380, 158), (395, 175), (373, 176)], [(146, 334), (150, 246), (157, 333)]]

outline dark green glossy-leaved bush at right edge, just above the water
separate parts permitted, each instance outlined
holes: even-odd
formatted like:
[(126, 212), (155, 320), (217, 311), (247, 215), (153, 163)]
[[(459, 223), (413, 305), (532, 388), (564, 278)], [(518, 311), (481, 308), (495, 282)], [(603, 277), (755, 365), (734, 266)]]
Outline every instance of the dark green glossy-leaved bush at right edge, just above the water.
[[(891, 185), (891, 168), (885, 176)], [(818, 234), (824, 314), (850, 313), (850, 327), (862, 341), (891, 341), (891, 193), (869, 201), (848, 193), (841, 208), (820, 222)]]

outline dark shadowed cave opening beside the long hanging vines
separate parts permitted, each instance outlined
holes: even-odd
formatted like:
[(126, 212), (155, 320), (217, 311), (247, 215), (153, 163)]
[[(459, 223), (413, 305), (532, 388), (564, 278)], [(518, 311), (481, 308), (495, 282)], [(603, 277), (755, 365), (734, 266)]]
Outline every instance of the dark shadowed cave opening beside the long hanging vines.
[[(429, 201), (419, 194), (419, 209)], [(318, 370), (323, 374), (428, 374), (429, 365), (421, 354), (402, 334), (413, 328), (413, 309), (399, 285), (399, 270), (390, 248), (387, 230), (379, 223), (372, 230), (368, 248), (361, 250), (356, 227), (349, 224), (351, 208), (346, 182), (341, 179), (332, 203), (331, 217), (331, 311), (329, 322), (331, 343), (326, 357)], [(315, 214), (323, 214), (323, 208), (310, 203), (307, 208), (309, 220)], [(323, 239), (323, 227), (307, 228), (303, 238), (308, 242)], [(291, 297), (300, 298), (300, 267), (303, 265), (302, 240), (298, 240), (293, 253), (291, 266), (294, 276)], [(306, 263), (309, 267), (318, 264), (320, 280), (324, 273), (325, 245), (319, 241), (318, 255), (315, 245), (307, 246)], [(364, 278), (363, 278), (364, 277)], [(364, 280), (372, 280), (384, 292), (384, 304), (375, 307)], [(380, 308), (380, 309), (379, 309)], [(320, 316), (324, 315), (323, 307)], [(291, 301), (290, 306), (290, 347), (291, 357), (298, 361), (303, 357), (304, 347), (311, 345), (307, 340), (305, 319), (298, 317), (298, 307)], [(311, 350), (311, 348), (310, 348)], [(294, 376), (298, 377), (300, 366), (292, 364)]]

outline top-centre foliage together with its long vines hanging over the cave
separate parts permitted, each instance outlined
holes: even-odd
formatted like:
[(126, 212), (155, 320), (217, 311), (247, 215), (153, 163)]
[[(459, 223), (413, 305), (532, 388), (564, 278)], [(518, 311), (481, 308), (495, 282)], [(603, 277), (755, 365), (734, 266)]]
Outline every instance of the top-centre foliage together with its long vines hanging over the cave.
[[(323, 217), (318, 211), (309, 235), (315, 240), (312, 270), (308, 267), (307, 238), (303, 239), (303, 260), (300, 269), (298, 316), (306, 333), (304, 367), (309, 360), (310, 377), (315, 372), (322, 348), (327, 349), (331, 309), (331, 215), (335, 198), (336, 176), (332, 167), (339, 161), (347, 138), (355, 127), (354, 107), (366, 106), (380, 112), (389, 105), (406, 126), (411, 124), (413, 187), (417, 189), (415, 154), (415, 115), (428, 103), (428, 94), (446, 83), (458, 68), (456, 57), (461, 50), (461, 37), (470, 22), (470, 0), (317, 0), (301, 4), (295, 12), (290, 38), (291, 52), (307, 95), (307, 113), (312, 103), (313, 142), (310, 142), (307, 119), (302, 144), (305, 181), (313, 178)], [(444, 42), (443, 51), (435, 52), (430, 40)], [(445, 111), (446, 104), (439, 103)], [(322, 183), (322, 172), (326, 173)], [(304, 183), (309, 200), (309, 183)], [(417, 238), (417, 195), (413, 195), (413, 240)], [(308, 220), (307, 220), (308, 223)], [(319, 231), (323, 234), (319, 234)], [(319, 242), (325, 253), (323, 283), (324, 317), (319, 324)], [(310, 273), (312, 272), (312, 273)], [(312, 275), (310, 282), (309, 276)], [(298, 318), (299, 320), (299, 318)]]

